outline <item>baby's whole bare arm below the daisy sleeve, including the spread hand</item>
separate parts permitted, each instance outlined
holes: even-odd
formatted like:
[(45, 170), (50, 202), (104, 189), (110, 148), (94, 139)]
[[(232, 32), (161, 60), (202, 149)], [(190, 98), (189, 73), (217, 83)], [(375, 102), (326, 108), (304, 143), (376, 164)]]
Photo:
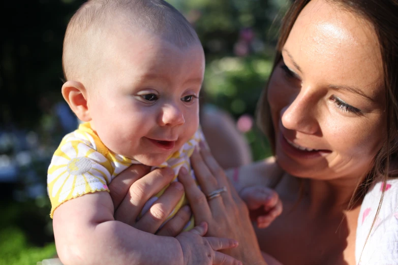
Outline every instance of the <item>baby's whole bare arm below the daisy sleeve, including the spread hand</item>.
[(113, 212), (111, 197), (105, 191), (74, 198), (55, 210), (56, 249), (65, 265), (239, 264), (213, 251), (235, 247), (236, 243), (203, 238), (206, 228), (195, 227), (177, 238), (155, 236), (115, 221)]

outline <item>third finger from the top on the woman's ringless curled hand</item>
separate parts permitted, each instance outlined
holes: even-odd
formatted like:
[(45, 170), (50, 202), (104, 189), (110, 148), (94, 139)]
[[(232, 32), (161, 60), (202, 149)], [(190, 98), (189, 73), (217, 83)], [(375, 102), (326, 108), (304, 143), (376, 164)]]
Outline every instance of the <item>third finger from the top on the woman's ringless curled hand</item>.
[[(184, 187), (179, 182), (173, 182), (167, 187), (160, 198), (149, 208), (149, 210), (136, 222), (135, 228), (151, 234), (159, 229), (167, 217), (173, 212), (180, 201)], [(149, 201), (150, 202), (150, 201)]]

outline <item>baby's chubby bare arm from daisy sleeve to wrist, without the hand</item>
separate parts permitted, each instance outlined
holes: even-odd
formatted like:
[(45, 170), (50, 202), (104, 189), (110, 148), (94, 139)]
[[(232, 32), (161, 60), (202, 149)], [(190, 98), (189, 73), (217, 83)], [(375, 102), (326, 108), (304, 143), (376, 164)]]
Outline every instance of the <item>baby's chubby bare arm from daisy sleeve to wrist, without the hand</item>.
[(106, 191), (60, 205), (54, 212), (53, 227), (57, 253), (65, 265), (182, 264), (175, 238), (154, 236), (115, 221)]

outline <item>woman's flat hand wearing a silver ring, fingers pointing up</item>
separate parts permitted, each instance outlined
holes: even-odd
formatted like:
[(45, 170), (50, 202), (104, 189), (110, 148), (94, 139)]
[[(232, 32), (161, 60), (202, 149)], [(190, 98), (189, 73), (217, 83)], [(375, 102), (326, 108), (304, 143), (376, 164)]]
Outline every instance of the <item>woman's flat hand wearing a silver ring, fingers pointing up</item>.
[[(191, 162), (201, 189), (183, 168), (178, 180), (185, 187), (195, 222), (208, 223), (207, 236), (237, 240), (238, 247), (224, 252), (241, 260), (243, 264), (266, 264), (250, 221), (248, 208), (230, 185), (217, 161), (206, 147), (201, 145), (201, 150), (195, 150), (193, 153)], [(219, 196), (206, 198), (206, 194), (223, 187), (226, 187), (227, 191), (219, 193)]]

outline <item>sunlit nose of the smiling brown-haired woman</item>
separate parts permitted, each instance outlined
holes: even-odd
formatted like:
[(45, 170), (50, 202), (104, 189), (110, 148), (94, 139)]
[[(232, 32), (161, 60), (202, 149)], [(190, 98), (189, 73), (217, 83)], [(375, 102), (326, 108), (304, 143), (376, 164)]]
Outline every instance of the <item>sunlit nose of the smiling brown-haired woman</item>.
[(293, 101), (281, 110), (282, 125), (290, 130), (304, 134), (316, 134), (319, 129), (317, 120), (316, 95), (301, 89)]

